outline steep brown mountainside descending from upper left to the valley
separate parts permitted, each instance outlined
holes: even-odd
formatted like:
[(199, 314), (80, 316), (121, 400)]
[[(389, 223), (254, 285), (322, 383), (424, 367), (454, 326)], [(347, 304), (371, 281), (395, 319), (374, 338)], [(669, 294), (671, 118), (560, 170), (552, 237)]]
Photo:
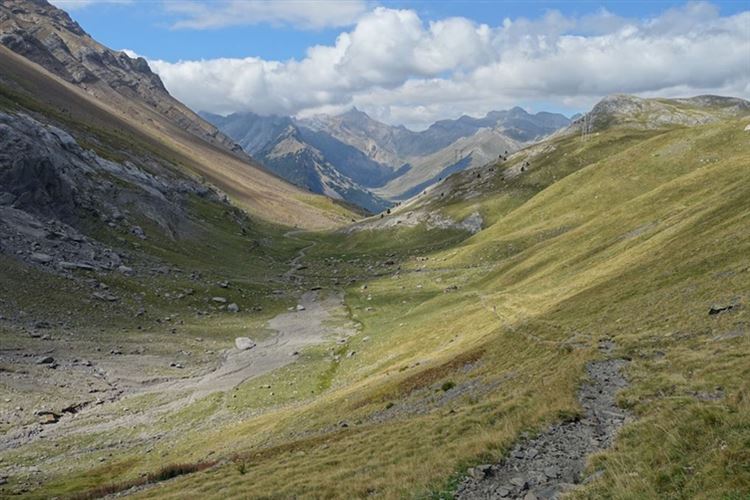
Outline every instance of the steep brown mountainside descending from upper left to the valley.
[[(70, 30), (53, 28), (56, 23), (69, 20), (62, 11), (42, 1), (14, 1), (12, 4), (6, 2), (3, 3), (2, 9), (3, 18), (0, 25), (3, 26), (3, 30), (30, 23), (28, 30), (23, 28), (20, 34), (13, 30), (10, 34), (6, 32), (6, 39), (16, 40), (20, 37), (26, 40), (25, 43), (31, 43), (36, 40), (31, 33), (42, 36), (43, 30), (49, 29), (57, 33), (49, 35), (49, 43), (56, 47), (53, 52), (59, 54), (62, 51), (70, 57), (59, 43), (62, 36), (75, 34), (75, 31), (70, 31), (74, 30), (75, 26), (68, 26)], [(26, 21), (29, 16), (32, 16), (34, 22)], [(79, 39), (90, 41), (87, 36), (76, 36), (71, 38), (73, 41), (70, 43), (73, 44)], [(85, 44), (77, 46), (78, 48), (72, 49), (72, 52), (79, 49), (83, 51), (84, 46)], [(106, 52), (107, 49), (101, 50), (104, 51), (101, 53), (109, 53)], [(40, 52), (34, 50), (31, 54), (39, 55)], [(63, 59), (62, 56), (59, 57)], [(107, 57), (105, 59), (109, 60)], [(143, 73), (143, 68), (136, 68), (131, 74), (126, 71), (127, 65), (123, 62), (124, 65), (117, 66), (123, 76), (115, 77), (114, 70), (110, 71), (113, 66), (107, 65), (106, 68), (109, 69), (102, 69), (99, 77), (86, 77), (78, 83), (72, 83), (63, 78), (72, 76), (72, 73), (63, 72), (63, 66), (56, 65), (52, 59), (40, 58), (40, 62), (62, 76), (51, 73), (5, 47), (0, 47), (0, 79), (6, 94), (10, 95), (10, 101), (31, 100), (34, 103), (33, 107), (45, 115), (54, 113), (75, 123), (88, 123), (100, 132), (126, 138), (129, 144), (150, 148), (159, 156), (169, 158), (186, 174), (214, 184), (243, 208), (268, 221), (318, 228), (331, 227), (350, 219), (350, 214), (345, 208), (335, 206), (324, 199), (318, 200), (312, 194), (298, 190), (267, 173), (244, 153), (237, 155), (236, 152), (230, 151), (236, 149), (231, 146), (233, 142), (221, 139), (223, 136), (212, 125), (174, 101), (160, 86), (153, 87), (158, 78), (146, 78), (153, 74)], [(70, 66), (73, 67), (75, 66)], [(85, 66), (84, 69), (87, 67), (89, 66)], [(103, 79), (105, 76), (107, 80)], [(131, 89), (132, 92), (126, 89)], [(146, 92), (144, 89), (154, 90), (154, 98), (161, 104), (148, 101), (148, 95), (142, 97), (140, 92)], [(182, 114), (181, 110), (187, 114)], [(180, 117), (188, 117), (190, 123), (186, 125)], [(204, 130), (208, 135), (195, 127)]]

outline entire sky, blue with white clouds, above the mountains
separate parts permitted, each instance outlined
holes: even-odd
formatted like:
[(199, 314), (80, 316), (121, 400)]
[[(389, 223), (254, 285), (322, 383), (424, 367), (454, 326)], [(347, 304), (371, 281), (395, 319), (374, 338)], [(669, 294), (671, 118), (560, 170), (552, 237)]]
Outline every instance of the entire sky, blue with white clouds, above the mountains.
[(750, 0), (53, 0), (219, 114), (357, 106), (421, 129), (612, 93), (750, 98)]

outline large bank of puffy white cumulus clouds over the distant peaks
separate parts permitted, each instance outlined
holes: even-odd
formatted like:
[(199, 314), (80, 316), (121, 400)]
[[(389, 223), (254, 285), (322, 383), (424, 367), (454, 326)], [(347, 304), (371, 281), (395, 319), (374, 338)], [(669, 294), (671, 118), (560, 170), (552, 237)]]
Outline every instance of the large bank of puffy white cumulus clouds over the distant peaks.
[(651, 19), (552, 11), (499, 26), (425, 23), (412, 10), (378, 7), (299, 60), (149, 62), (198, 110), (309, 115), (356, 105), (418, 128), (516, 104), (587, 107), (616, 92), (748, 98), (748, 26), (750, 12), (721, 17), (708, 3)]

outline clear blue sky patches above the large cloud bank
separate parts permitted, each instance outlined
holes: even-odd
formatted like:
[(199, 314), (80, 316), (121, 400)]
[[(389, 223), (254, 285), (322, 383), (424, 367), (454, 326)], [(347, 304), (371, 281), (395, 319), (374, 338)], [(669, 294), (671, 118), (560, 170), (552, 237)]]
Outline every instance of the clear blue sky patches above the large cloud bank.
[[(168, 0), (167, 0), (168, 1)], [(283, 1), (283, 0), (280, 0)], [(285, 60), (301, 58), (307, 47), (332, 44), (341, 27), (298, 28), (286, 25), (256, 24), (214, 29), (173, 29), (179, 15), (164, 9), (159, 1), (123, 3), (54, 2), (63, 4), (73, 19), (104, 45), (114, 49), (131, 49), (152, 59), (176, 62), (180, 59), (258, 56)], [(166, 3), (166, 2), (164, 2)], [(412, 9), (426, 22), (458, 16), (477, 23), (497, 25), (509, 17), (538, 18), (549, 10), (580, 16), (602, 8), (624, 17), (653, 17), (670, 7), (684, 5), (672, 0), (629, 0), (619, 2), (590, 1), (403, 1), (373, 2), (398, 9)], [(748, 10), (750, 1), (712, 2), (722, 15)], [(71, 8), (72, 7), (72, 8)], [(344, 26), (345, 27), (345, 26)]]

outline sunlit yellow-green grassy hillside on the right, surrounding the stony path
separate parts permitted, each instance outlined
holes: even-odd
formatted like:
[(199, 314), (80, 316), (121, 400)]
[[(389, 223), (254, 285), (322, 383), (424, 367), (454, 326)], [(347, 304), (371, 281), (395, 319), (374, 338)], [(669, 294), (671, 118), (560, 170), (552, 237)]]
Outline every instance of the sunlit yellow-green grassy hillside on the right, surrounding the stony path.
[[(229, 463), (140, 495), (439, 495), (446, 478), (497, 460), (521, 431), (575, 414), (583, 366), (599, 339), (613, 338), (632, 359), (621, 401), (638, 420), (594, 460), (601, 480), (575, 495), (741, 498), (750, 490), (744, 125), (626, 141), (463, 245), (409, 260), (366, 291), (352, 286), (363, 331), (338, 349), (357, 354), (311, 353), (293, 368), (316, 381), (315, 394), (265, 406), (253, 381), (235, 404), (256, 417), (188, 436), (161, 458), (241, 453), (247, 473)], [(448, 285), (459, 289), (443, 293)], [(740, 306), (709, 316), (714, 303)]]

